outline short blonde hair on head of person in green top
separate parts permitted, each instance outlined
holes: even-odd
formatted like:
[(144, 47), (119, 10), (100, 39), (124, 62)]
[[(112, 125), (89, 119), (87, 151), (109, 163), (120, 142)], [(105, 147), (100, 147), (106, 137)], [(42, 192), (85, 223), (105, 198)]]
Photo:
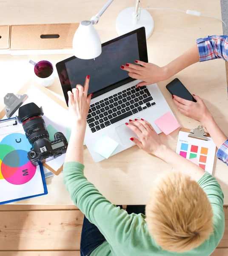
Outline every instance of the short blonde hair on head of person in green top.
[(192, 250), (213, 232), (213, 212), (207, 195), (191, 177), (171, 172), (154, 186), (146, 206), (146, 221), (163, 250)]

